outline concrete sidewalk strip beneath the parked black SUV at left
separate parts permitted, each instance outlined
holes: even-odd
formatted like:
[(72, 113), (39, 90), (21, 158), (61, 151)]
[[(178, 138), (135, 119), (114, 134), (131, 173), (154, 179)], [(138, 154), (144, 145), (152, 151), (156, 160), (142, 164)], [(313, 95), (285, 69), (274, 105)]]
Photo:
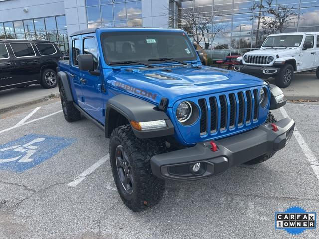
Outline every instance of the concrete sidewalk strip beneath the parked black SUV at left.
[(0, 91), (0, 113), (22, 106), (59, 97), (59, 88), (45, 89), (41, 85)]

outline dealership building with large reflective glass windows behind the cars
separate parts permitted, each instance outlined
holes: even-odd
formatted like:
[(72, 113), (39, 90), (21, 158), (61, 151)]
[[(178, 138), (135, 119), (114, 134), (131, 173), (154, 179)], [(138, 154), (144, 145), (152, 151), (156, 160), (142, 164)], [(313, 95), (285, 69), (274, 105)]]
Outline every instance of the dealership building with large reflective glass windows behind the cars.
[(91, 27), (183, 28), (216, 60), (271, 33), (319, 31), (319, 0), (0, 0), (0, 39), (47, 39), (68, 54), (68, 35)]

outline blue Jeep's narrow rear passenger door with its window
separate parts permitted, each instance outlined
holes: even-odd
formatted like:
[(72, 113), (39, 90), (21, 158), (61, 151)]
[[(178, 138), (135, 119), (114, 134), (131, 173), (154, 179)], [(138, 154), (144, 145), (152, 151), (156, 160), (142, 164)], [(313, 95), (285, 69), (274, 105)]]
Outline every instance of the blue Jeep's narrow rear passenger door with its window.
[(78, 55), (80, 54), (80, 38), (72, 39), (72, 51), (70, 54), (70, 72), (69, 79), (72, 85), (73, 97), (75, 102), (84, 109), (84, 97), (82, 93), (82, 83), (80, 81), (81, 73), (79, 69)]

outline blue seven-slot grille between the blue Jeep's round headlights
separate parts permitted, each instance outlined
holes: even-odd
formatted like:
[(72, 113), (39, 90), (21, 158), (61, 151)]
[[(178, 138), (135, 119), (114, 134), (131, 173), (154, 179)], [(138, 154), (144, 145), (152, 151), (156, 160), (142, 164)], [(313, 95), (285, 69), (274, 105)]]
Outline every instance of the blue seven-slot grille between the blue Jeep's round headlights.
[[(219, 97), (209, 97), (199, 99), (198, 105), (201, 110), (200, 134), (213, 134), (222, 132), (236, 126), (250, 124), (251, 121), (258, 120), (259, 104), (258, 90), (251, 89), (240, 91), (237, 94), (227, 93)], [(210, 111), (207, 110), (207, 105)], [(210, 114), (209, 114), (210, 112)], [(210, 122), (208, 122), (208, 120)], [(208, 132), (208, 125), (210, 125)]]

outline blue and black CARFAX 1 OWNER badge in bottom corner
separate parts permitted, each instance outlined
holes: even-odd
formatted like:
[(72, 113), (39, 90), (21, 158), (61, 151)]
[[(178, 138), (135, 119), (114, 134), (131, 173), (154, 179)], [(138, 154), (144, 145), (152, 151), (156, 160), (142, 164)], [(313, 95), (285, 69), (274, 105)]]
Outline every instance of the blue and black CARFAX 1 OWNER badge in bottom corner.
[(297, 235), (306, 229), (316, 229), (316, 213), (306, 212), (301, 207), (291, 207), (285, 212), (275, 213), (275, 228)]

